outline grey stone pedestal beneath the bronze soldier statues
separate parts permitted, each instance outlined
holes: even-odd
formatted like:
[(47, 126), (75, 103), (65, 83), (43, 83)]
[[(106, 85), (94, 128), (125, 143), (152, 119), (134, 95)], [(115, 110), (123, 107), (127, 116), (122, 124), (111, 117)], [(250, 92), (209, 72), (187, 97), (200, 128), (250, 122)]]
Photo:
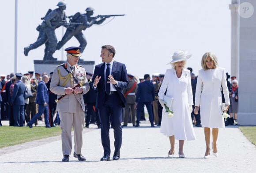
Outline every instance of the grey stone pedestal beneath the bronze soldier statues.
[[(53, 70), (56, 68), (56, 66), (63, 64), (65, 61), (55, 61), (55, 60), (34, 60), (34, 72), (37, 72), (39, 74), (42, 74), (43, 72), (46, 72), (48, 75), (50, 72), (53, 72)], [(82, 65), (83, 68), (85, 68), (86, 72), (93, 73), (94, 70), (94, 61), (81, 61), (78, 63), (78, 65)]]

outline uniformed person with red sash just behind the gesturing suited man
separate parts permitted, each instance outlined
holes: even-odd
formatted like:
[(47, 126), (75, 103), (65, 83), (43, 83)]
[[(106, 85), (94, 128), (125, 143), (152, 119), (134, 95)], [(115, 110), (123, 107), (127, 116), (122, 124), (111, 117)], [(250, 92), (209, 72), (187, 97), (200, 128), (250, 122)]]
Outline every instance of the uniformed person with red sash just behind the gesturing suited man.
[(126, 99), (126, 106), (124, 108), (124, 124), (123, 127), (126, 127), (128, 124), (128, 118), (130, 113), (132, 114), (132, 126), (136, 125), (136, 109), (135, 109), (135, 99), (136, 99), (136, 91), (138, 88), (138, 84), (135, 81), (135, 78), (131, 74), (127, 74), (129, 86), (128, 88), (123, 90), (124, 97)]

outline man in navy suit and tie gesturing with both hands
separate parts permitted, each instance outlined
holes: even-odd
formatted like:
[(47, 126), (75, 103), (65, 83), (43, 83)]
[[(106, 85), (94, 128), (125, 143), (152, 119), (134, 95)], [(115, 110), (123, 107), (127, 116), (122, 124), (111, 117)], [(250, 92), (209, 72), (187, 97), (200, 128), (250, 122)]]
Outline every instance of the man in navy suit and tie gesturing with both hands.
[(102, 46), (101, 58), (103, 63), (95, 66), (92, 78), (92, 88), (98, 90), (96, 108), (98, 108), (102, 123), (101, 138), (104, 155), (101, 161), (109, 161), (109, 120), (115, 137), (113, 160), (120, 159), (122, 144), (122, 108), (125, 107), (126, 103), (122, 90), (128, 87), (129, 82), (125, 65), (113, 60), (115, 53), (116, 50), (113, 46)]

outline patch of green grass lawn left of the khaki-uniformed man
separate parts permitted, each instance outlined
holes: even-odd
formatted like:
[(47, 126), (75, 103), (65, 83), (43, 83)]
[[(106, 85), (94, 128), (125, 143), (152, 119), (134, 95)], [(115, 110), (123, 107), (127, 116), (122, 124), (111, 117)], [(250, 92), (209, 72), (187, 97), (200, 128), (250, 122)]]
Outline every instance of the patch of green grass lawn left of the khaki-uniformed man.
[(0, 148), (58, 136), (60, 134), (60, 127), (45, 128), (45, 126), (37, 126), (30, 129), (29, 127), (1, 126)]

